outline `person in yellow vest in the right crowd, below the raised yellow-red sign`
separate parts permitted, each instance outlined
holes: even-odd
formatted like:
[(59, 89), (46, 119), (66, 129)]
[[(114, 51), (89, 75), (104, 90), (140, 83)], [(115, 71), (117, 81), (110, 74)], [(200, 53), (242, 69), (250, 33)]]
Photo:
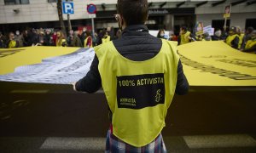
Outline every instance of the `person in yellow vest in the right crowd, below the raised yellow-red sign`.
[(230, 47), (238, 49), (239, 37), (236, 34), (236, 27), (235, 26), (230, 27), (229, 36), (226, 38), (225, 42), (228, 45), (230, 45)]

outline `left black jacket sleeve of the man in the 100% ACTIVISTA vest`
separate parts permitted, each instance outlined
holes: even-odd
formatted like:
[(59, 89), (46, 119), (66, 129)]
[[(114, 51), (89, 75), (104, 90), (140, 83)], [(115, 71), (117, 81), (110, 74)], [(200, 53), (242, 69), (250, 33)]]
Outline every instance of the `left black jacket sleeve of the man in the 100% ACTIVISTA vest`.
[(91, 94), (102, 87), (102, 78), (98, 70), (98, 65), (99, 59), (95, 55), (90, 65), (90, 71), (79, 82), (76, 82), (75, 88), (77, 91)]

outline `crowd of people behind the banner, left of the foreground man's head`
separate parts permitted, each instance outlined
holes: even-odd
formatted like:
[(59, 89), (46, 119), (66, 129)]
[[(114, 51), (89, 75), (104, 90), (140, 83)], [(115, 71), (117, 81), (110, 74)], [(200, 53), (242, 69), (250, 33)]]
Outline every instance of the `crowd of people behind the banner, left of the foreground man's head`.
[(91, 31), (85, 27), (83, 31), (68, 31), (67, 36), (61, 30), (54, 29), (32, 29), (9, 32), (3, 35), (0, 31), (0, 48), (21, 48), (27, 46), (57, 46), (57, 47), (79, 47), (91, 48), (93, 46), (109, 42), (121, 36), (121, 31), (113, 33), (113, 28), (102, 29), (92, 36)]

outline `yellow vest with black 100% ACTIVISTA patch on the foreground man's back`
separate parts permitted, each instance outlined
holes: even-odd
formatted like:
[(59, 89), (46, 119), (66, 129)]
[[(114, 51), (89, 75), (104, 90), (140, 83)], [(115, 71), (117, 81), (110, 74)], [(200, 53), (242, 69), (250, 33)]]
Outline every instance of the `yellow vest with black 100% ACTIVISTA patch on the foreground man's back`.
[(141, 147), (166, 126), (177, 82), (177, 43), (162, 39), (154, 58), (132, 61), (119, 54), (113, 42), (95, 48), (102, 88), (113, 113), (113, 134)]

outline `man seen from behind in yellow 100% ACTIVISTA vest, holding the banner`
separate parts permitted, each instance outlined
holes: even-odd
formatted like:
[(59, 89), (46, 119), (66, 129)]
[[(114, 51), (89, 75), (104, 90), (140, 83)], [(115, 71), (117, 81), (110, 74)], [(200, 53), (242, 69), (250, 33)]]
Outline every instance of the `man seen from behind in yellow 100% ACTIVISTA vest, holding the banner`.
[(148, 0), (118, 0), (117, 13), (122, 37), (94, 48), (90, 71), (73, 88), (103, 88), (111, 121), (105, 152), (166, 152), (167, 109), (174, 94), (189, 90), (177, 43), (148, 33)]

